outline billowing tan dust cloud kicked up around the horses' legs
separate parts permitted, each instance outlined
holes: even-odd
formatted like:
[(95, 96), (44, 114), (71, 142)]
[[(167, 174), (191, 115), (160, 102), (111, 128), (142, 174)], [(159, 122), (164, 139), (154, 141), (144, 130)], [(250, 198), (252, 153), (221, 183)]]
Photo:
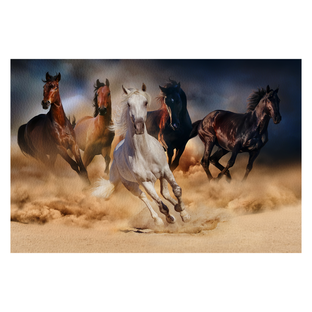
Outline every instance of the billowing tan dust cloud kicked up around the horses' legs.
[[(194, 149), (194, 143), (189, 141), (180, 165), (174, 171), (192, 221), (183, 223), (179, 213), (161, 197), (177, 219), (175, 224), (168, 224), (149, 198), (151, 206), (165, 223), (165, 228), (157, 228), (145, 204), (122, 185), (109, 200), (93, 197), (90, 188), (59, 155), (56, 174), (52, 174), (40, 162), (25, 157), (17, 144), (10, 144), (10, 221), (61, 223), (105, 231), (131, 227), (151, 229), (156, 233), (199, 233), (216, 228), (218, 222), (227, 221), (233, 214), (279, 209), (295, 205), (302, 199), (302, 163), (272, 168), (255, 162), (247, 182), (242, 183), (247, 160), (238, 157), (230, 169), (231, 183), (225, 177), (218, 183), (209, 183), (200, 165), (201, 158), (201, 149)], [(221, 160), (223, 165), (226, 162), (227, 159)], [(212, 165), (209, 168), (216, 177), (219, 170)], [(92, 187), (100, 176), (108, 179), (104, 176), (105, 161), (101, 155), (96, 156), (87, 169)], [(160, 194), (159, 181), (155, 188)], [(169, 191), (174, 197), (170, 187)]]

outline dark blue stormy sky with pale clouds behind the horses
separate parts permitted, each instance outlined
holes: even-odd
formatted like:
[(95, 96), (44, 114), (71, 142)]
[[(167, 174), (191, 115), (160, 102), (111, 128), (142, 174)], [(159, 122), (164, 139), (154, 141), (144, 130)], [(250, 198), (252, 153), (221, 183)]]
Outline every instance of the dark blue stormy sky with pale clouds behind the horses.
[[(144, 82), (154, 99), (169, 77), (180, 81), (192, 122), (216, 109), (246, 111), (246, 99), (257, 87), (279, 85), (280, 124), (270, 121), (269, 142), (262, 159), (274, 163), (302, 158), (302, 59), (10, 59), (10, 142), (17, 129), (42, 109), (46, 72), (61, 73), (60, 95), (66, 115), (92, 115), (93, 85), (110, 81), (112, 108), (121, 85), (140, 88)], [(148, 110), (157, 109), (153, 100)], [(10, 143), (11, 144), (11, 143)], [(259, 156), (259, 158), (261, 158)]]

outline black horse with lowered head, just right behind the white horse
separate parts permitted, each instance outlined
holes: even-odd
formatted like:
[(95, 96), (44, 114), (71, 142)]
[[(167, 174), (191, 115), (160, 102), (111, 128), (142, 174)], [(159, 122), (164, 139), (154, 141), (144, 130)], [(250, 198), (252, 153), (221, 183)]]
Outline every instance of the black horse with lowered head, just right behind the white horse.
[[(156, 138), (168, 155), (168, 164), (171, 171), (179, 165), (179, 160), (188, 143), (192, 131), (192, 122), (187, 110), (187, 100), (180, 82), (169, 81), (159, 86), (161, 93), (157, 97), (159, 110), (147, 112), (145, 122), (149, 135)], [(175, 158), (172, 161), (174, 149)]]

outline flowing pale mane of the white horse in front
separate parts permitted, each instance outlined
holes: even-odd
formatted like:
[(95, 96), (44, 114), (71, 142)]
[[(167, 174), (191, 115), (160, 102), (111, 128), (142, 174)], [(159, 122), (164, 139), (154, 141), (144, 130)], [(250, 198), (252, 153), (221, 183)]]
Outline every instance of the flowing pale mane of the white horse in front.
[(138, 90), (135, 88), (129, 88), (127, 89), (130, 92), (128, 94), (123, 94), (121, 97), (121, 100), (119, 102), (119, 105), (117, 106), (116, 113), (112, 116), (113, 119), (113, 125), (109, 126), (108, 129), (111, 131), (115, 131), (115, 136), (120, 135), (122, 138), (126, 136), (127, 130), (128, 130), (128, 105), (127, 102), (131, 95), (143, 95), (147, 103), (151, 102), (151, 96), (149, 93)]

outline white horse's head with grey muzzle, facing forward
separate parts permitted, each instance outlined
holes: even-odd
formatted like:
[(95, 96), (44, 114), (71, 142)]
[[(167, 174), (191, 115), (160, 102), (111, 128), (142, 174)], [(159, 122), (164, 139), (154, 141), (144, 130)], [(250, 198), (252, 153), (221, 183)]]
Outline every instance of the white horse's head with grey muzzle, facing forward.
[(146, 85), (143, 83), (142, 91), (134, 88), (124, 88), (124, 99), (128, 106), (128, 118), (134, 127), (135, 134), (144, 134), (144, 123), (147, 115), (147, 105), (151, 100), (151, 97), (146, 93)]

